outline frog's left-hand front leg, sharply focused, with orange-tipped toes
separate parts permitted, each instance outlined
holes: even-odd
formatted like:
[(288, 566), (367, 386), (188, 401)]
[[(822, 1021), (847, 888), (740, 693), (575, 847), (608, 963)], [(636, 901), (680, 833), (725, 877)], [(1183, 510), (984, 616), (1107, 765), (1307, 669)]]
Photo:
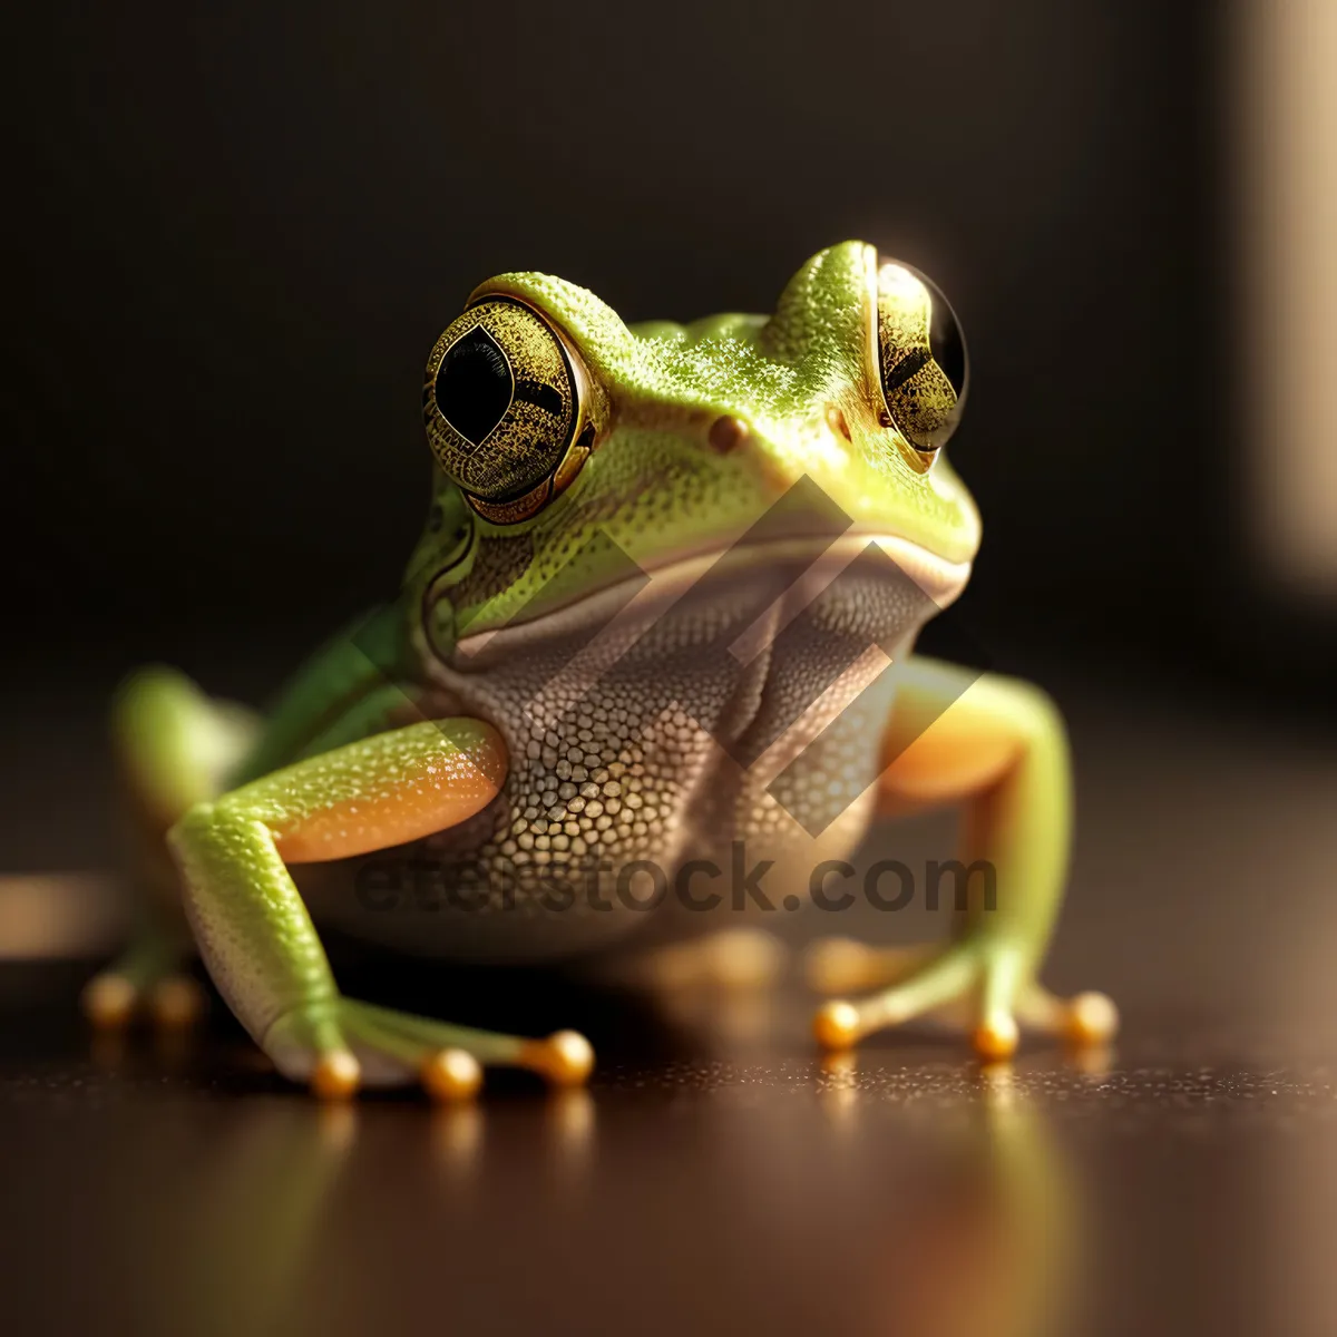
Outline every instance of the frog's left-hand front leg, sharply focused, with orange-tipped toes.
[(574, 1032), (525, 1040), (445, 1025), (344, 997), (289, 864), (346, 858), (420, 840), (480, 812), (507, 770), (477, 719), (424, 721), (299, 761), (195, 805), (168, 842), (205, 963), (233, 1012), (281, 1072), (324, 1096), (418, 1076), (471, 1095), (480, 1063), (555, 1082), (590, 1071)]

